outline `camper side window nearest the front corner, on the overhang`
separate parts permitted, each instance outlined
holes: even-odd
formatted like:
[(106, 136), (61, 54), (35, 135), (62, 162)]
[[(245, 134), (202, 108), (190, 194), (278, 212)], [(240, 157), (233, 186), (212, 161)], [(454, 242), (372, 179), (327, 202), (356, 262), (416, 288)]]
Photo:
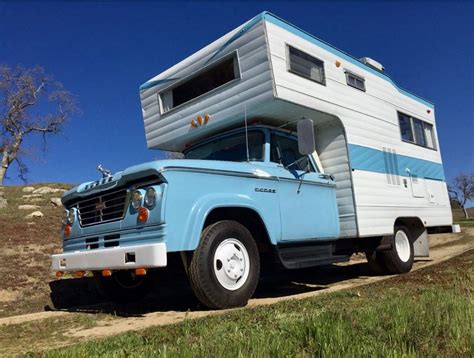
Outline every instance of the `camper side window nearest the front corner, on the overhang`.
[(288, 71), (325, 85), (324, 62), (288, 46)]

